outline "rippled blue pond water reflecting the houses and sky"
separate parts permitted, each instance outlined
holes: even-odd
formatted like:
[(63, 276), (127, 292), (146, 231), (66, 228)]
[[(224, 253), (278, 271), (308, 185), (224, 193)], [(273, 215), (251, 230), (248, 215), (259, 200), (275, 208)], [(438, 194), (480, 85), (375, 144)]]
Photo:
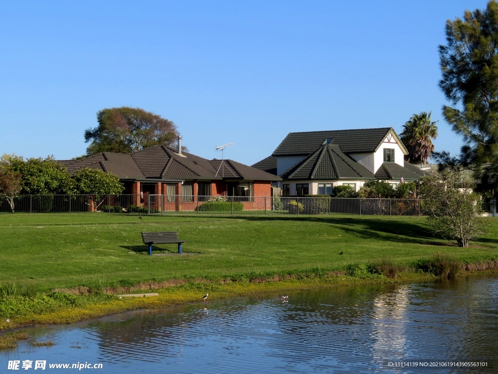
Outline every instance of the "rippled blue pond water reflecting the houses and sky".
[[(498, 373), (498, 279), (288, 296), (287, 304), (278, 295), (212, 300), (32, 329), (57, 345), (20, 342), (0, 353), (0, 373), (12, 373), (12, 360), (46, 360), (48, 371), (49, 363), (101, 363), (100, 373)], [(397, 369), (385, 359), (489, 364)]]

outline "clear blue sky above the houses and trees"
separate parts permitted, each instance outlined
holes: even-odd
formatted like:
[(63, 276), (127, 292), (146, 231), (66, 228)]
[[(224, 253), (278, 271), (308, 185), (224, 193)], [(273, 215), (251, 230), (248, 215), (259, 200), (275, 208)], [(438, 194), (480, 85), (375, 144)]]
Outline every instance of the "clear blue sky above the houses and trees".
[(438, 120), (447, 19), (484, 0), (2, 1), (0, 154), (85, 153), (103, 108), (175, 122), (191, 153), (244, 164), (289, 132)]

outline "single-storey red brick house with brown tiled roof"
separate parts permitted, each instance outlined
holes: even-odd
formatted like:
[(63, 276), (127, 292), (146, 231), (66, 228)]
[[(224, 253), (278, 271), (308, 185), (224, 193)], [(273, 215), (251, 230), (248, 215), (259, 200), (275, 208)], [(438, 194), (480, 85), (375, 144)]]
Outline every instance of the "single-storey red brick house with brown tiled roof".
[[(102, 152), (59, 162), (70, 173), (91, 168), (115, 174), (124, 184), (123, 194), (133, 195), (134, 205), (152, 201), (159, 210), (194, 210), (210, 196), (233, 197), (249, 207), (254, 197), (271, 195), (271, 182), (281, 181), (233, 160), (207, 160), (167, 146), (153, 146), (133, 154)], [(163, 206), (157, 195), (163, 195)]]

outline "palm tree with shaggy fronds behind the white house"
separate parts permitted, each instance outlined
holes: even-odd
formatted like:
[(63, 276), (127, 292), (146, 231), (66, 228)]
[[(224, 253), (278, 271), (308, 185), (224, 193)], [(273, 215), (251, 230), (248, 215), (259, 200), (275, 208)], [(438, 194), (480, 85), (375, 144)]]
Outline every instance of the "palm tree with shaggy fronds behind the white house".
[(414, 114), (403, 125), (403, 132), (399, 135), (408, 150), (407, 161), (412, 164), (426, 164), (427, 159), (434, 151), (431, 139), (437, 137), (436, 122), (431, 122), (431, 114), (422, 112)]

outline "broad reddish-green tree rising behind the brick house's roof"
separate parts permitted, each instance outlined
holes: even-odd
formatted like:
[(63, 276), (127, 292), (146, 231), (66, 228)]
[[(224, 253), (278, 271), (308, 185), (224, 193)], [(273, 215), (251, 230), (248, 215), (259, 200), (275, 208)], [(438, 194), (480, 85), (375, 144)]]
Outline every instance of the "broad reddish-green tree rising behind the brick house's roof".
[(85, 131), (92, 142), (87, 155), (99, 152), (132, 153), (155, 145), (174, 146), (175, 124), (140, 108), (110, 108), (97, 112), (99, 126)]

